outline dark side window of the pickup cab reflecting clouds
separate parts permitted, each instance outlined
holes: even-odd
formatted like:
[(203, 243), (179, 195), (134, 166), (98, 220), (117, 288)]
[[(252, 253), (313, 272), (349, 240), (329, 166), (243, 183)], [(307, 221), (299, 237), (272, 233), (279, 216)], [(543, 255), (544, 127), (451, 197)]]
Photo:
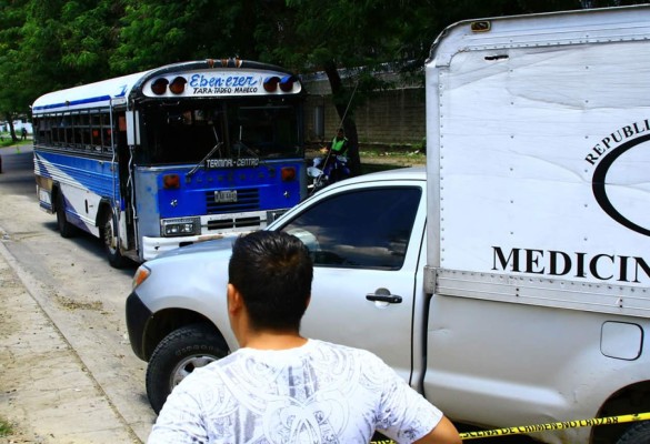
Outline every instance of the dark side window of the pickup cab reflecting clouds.
[(314, 265), (399, 270), (421, 194), (417, 186), (339, 193), (310, 206), (282, 230), (306, 243)]

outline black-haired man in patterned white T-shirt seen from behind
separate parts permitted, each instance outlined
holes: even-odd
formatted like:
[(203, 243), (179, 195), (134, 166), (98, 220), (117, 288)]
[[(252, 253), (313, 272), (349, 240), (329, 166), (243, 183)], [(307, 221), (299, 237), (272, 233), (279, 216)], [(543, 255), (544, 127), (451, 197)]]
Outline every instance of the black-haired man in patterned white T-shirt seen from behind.
[(460, 443), (442, 413), (379, 357), (300, 335), (313, 268), (298, 238), (238, 238), (228, 313), (241, 349), (186, 377), (149, 443)]

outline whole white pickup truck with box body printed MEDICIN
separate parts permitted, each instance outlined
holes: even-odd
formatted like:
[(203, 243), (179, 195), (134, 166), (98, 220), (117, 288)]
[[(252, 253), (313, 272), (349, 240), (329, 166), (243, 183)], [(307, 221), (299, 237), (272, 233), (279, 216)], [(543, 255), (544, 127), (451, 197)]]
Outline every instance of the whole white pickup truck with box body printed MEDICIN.
[[(314, 261), (303, 334), (379, 354), (456, 422), (650, 411), (650, 8), (473, 20), (426, 67), (426, 169), (358, 176), (269, 230)], [(237, 347), (231, 240), (143, 264), (127, 301), (154, 410)], [(544, 431), (632, 443), (649, 423)]]

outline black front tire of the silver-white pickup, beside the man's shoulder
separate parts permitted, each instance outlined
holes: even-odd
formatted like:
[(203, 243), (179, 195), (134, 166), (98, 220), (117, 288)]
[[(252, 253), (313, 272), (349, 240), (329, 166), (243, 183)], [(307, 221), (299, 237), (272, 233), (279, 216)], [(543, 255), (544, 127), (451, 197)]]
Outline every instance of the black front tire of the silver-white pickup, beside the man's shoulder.
[(147, 396), (158, 414), (171, 393), (194, 369), (228, 354), (223, 339), (207, 324), (183, 326), (167, 335), (147, 366)]

